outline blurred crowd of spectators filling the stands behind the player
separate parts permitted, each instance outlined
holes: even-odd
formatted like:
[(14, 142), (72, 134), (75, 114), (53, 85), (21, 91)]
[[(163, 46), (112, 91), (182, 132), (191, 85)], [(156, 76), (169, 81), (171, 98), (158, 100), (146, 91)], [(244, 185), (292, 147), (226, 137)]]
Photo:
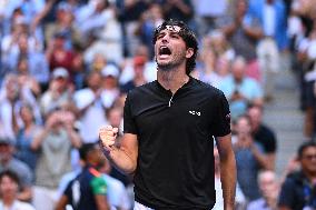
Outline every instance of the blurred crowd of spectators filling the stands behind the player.
[[(199, 56), (191, 76), (229, 101), (236, 206), (316, 208), (316, 146), (298, 149), (278, 178), (277, 138), (261, 120), (275, 99), (276, 73), (293, 71), (303, 132), (314, 139), (315, 0), (1, 0), (0, 209), (14, 201), (53, 210), (92, 160), (105, 178), (108, 209), (132, 209), (132, 177), (88, 156), (87, 146), (98, 142), (103, 124), (122, 132), (127, 92), (156, 80), (152, 34), (167, 19), (194, 29)], [(293, 203), (295, 192), (302, 204)], [(221, 206), (219, 193), (215, 209)]]

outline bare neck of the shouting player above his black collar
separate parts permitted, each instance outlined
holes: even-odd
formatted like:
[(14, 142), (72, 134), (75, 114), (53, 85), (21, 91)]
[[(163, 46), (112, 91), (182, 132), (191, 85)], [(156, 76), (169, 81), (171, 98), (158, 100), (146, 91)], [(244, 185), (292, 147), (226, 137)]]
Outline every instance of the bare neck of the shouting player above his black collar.
[(161, 71), (158, 70), (158, 82), (166, 89), (170, 90), (172, 93), (177, 92), (185, 83), (189, 81), (189, 77), (177, 70)]

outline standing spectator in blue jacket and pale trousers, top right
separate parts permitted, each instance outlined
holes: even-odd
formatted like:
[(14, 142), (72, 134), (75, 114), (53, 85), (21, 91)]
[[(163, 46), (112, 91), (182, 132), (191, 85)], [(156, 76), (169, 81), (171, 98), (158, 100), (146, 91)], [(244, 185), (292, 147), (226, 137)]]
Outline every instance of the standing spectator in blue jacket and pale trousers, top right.
[(285, 3), (280, 0), (250, 0), (249, 13), (257, 17), (263, 28), (258, 44), (258, 61), (263, 73), (265, 99), (273, 99), (275, 73), (282, 68), (279, 51), (287, 50), (287, 17)]

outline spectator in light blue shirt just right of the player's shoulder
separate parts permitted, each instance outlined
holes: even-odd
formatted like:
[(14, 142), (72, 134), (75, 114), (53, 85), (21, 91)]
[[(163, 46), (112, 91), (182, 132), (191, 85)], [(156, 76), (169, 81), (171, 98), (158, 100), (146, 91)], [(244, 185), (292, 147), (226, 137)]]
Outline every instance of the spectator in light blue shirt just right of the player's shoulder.
[(263, 104), (263, 90), (259, 83), (245, 73), (246, 62), (237, 57), (233, 62), (231, 76), (223, 80), (219, 86), (229, 101), (231, 119), (246, 113), (249, 103)]

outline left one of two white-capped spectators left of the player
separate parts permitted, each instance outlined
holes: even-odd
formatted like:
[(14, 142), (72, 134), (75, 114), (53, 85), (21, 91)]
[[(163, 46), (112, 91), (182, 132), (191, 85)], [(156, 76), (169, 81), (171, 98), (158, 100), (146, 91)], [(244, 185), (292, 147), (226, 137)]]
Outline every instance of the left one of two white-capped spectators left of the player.
[(69, 73), (65, 68), (59, 67), (52, 71), (49, 88), (40, 99), (43, 116), (52, 110), (72, 106), (71, 90), (69, 89), (68, 81)]

